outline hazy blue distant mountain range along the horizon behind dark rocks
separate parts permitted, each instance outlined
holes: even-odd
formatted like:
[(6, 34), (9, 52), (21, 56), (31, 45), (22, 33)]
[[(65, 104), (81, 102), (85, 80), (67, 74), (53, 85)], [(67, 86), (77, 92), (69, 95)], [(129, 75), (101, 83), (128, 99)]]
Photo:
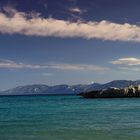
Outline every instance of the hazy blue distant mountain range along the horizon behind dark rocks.
[(19, 86), (0, 92), (0, 95), (54, 95), (54, 94), (78, 94), (85, 91), (101, 90), (109, 87), (124, 88), (129, 85), (140, 85), (140, 80), (115, 80), (105, 84), (88, 84), (88, 85), (55, 85), (47, 86), (43, 84)]

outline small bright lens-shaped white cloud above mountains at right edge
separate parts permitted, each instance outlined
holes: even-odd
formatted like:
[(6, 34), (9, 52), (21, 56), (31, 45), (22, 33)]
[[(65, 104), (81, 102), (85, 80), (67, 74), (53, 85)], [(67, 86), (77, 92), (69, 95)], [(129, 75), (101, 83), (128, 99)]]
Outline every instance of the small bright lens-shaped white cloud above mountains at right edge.
[(111, 61), (112, 64), (121, 64), (128, 66), (140, 65), (140, 59), (134, 57), (120, 58), (115, 61)]

